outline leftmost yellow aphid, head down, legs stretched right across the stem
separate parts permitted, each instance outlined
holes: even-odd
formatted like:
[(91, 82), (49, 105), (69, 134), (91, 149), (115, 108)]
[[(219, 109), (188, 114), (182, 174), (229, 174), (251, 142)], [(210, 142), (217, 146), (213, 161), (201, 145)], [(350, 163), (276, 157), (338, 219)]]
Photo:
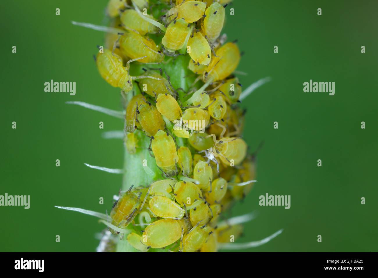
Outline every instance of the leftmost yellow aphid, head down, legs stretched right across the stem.
[(132, 80), (141, 78), (154, 78), (152, 76), (130, 76), (130, 63), (141, 60), (142, 58), (132, 59), (127, 62), (126, 68), (123, 67), (123, 61), (117, 54), (112, 54), (112, 51), (104, 49), (104, 53), (98, 53), (96, 64), (98, 71), (102, 78), (105, 79), (113, 87), (121, 88), (125, 93), (133, 89)]

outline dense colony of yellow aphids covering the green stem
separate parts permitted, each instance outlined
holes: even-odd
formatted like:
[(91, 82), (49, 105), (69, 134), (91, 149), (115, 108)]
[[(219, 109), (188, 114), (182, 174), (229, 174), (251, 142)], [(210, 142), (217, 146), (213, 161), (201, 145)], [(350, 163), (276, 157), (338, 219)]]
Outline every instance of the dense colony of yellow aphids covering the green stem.
[[(255, 179), (254, 160), (241, 138), (243, 111), (237, 102), (242, 87), (232, 75), (240, 52), (234, 42), (224, 43), (220, 37), (227, 2), (108, 4), (108, 16), (123, 31), (108, 34), (108, 49), (98, 53), (97, 67), (128, 97), (127, 151), (138, 154), (144, 148), (136, 134), (149, 137), (150, 155), (161, 171), (152, 184), (130, 185), (121, 192), (110, 213), (112, 233), (122, 238), (128, 228), (132, 232), (125, 240), (141, 252), (215, 252), (219, 242), (242, 233), (239, 224), (217, 226), (223, 212), (249, 192)], [(166, 7), (159, 19), (148, 12), (154, 5)], [(181, 55), (190, 56), (188, 68), (200, 88), (174, 88), (162, 69)], [(131, 76), (131, 62), (143, 64), (143, 72)], [(194, 124), (181, 129), (175, 121)]]

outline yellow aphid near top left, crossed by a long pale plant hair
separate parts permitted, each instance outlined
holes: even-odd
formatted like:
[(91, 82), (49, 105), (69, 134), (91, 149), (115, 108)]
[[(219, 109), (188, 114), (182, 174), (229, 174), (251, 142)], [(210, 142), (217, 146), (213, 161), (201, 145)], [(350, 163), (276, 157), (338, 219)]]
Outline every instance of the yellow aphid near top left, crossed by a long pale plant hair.
[[(148, 14), (145, 16), (155, 20), (152, 16)], [(127, 30), (135, 30), (142, 36), (144, 36), (147, 33), (155, 34), (159, 31), (159, 28), (144, 20), (144, 18), (141, 17), (138, 14), (138, 12), (133, 9), (127, 9), (124, 12), (122, 12), (121, 23)]]

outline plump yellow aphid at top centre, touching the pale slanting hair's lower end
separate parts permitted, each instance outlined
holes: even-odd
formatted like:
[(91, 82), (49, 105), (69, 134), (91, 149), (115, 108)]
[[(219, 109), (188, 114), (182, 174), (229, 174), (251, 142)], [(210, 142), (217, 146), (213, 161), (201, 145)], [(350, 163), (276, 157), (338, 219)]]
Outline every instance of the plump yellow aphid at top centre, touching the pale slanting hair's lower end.
[(169, 51), (174, 52), (183, 48), (185, 39), (189, 34), (190, 28), (183, 19), (177, 19), (171, 22), (167, 28), (167, 31), (161, 40), (164, 47)]

